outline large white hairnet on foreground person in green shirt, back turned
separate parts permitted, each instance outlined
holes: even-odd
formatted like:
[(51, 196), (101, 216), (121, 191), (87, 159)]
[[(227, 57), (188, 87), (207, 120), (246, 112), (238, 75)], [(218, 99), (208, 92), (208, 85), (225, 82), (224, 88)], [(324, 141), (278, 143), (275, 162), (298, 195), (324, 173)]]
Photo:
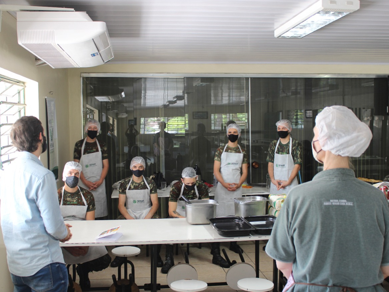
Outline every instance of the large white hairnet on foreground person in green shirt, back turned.
[(319, 143), (335, 155), (359, 157), (373, 137), (370, 128), (345, 106), (330, 106), (316, 116)]

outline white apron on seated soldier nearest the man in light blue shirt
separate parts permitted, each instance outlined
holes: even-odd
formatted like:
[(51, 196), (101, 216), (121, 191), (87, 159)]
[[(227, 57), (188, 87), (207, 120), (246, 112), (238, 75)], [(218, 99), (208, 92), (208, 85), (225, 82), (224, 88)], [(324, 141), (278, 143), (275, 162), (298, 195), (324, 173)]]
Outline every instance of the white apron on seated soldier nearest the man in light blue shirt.
[[(86, 203), (84, 195), (82, 195), (80, 188), (78, 186), (77, 188), (81, 193), (84, 206), (63, 206), (63, 190), (65, 189), (65, 187), (62, 188), (60, 209), (64, 221), (85, 220), (86, 218), (86, 210), (88, 209), (88, 205)], [(86, 255), (75, 257), (70, 252), (65, 250), (65, 248), (61, 248), (61, 249), (63, 254), (63, 260), (68, 265), (82, 264), (83, 262), (89, 262), (90, 260), (98, 259), (99, 257), (102, 257), (103, 255), (108, 253), (105, 246), (89, 246)]]

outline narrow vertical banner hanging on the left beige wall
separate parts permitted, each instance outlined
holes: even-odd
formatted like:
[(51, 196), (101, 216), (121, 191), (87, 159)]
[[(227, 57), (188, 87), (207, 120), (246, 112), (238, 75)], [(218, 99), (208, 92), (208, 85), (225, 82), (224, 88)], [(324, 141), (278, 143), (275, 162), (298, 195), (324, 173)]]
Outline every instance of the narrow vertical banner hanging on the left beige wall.
[(58, 136), (57, 136), (57, 116), (55, 113), (55, 99), (46, 97), (46, 117), (47, 117), (47, 150), (49, 155), (49, 169), (58, 180)]

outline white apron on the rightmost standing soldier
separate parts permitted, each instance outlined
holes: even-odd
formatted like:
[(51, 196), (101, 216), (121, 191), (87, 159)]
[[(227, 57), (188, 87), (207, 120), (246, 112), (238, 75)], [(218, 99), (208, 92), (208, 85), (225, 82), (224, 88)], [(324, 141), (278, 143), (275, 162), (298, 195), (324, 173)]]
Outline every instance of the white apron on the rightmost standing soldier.
[[(274, 179), (279, 179), (282, 181), (287, 181), (292, 174), (294, 168), (294, 162), (292, 157), (292, 137), (289, 137), (289, 154), (277, 154), (278, 145), (280, 143), (280, 139), (278, 139), (277, 145), (274, 150), (274, 162), (273, 162), (273, 172)], [(273, 183), (270, 183), (270, 193), (285, 193), (286, 195), (289, 193), (289, 190), (293, 188), (293, 186), (298, 185), (297, 177), (295, 177), (292, 183), (285, 188), (280, 188), (277, 190), (277, 186)]]

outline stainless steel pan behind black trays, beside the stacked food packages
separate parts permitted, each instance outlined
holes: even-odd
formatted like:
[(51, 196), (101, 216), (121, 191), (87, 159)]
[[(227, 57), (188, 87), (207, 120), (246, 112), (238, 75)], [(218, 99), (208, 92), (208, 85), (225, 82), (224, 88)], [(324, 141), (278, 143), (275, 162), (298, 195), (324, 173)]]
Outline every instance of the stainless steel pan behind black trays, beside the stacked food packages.
[(234, 198), (235, 201), (235, 216), (242, 218), (247, 216), (266, 215), (265, 197), (251, 196)]

